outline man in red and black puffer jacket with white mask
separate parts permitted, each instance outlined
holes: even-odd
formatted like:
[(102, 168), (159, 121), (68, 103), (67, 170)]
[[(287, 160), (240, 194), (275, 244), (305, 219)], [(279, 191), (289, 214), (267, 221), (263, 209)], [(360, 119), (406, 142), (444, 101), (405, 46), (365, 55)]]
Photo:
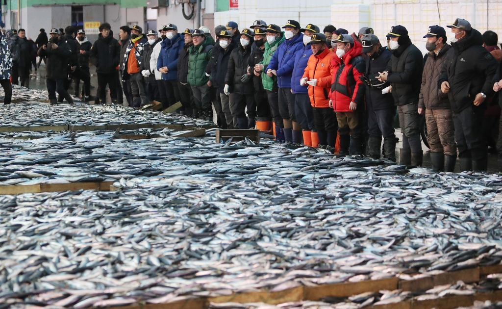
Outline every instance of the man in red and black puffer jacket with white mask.
[[(362, 45), (348, 34), (340, 34), (336, 42), (336, 56), (331, 59), (333, 79), (329, 93), (330, 107), (336, 113), (338, 134), (340, 134), (340, 157), (362, 155), (362, 116), (364, 110), (364, 84), (361, 77), (365, 62), (361, 56)], [(319, 134), (319, 133), (318, 133)], [(333, 133), (327, 132), (328, 143)], [(334, 133), (336, 139), (336, 132)], [(350, 147), (350, 144), (353, 147)], [(354, 149), (354, 153), (349, 152)]]

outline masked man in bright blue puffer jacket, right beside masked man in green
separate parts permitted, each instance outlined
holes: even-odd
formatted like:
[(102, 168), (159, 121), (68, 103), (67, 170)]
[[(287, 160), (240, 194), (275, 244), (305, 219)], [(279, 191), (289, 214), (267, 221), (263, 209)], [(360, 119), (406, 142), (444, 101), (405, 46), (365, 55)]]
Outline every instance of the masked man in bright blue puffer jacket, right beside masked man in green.
[[(277, 76), (279, 86), (279, 113), (283, 118), (284, 138), (286, 142), (299, 144), (301, 142), (301, 127), (296, 122), (295, 95), (291, 92), (291, 77), (297, 51), (303, 49), (303, 34), (300, 33), (300, 23), (289, 20), (283, 27), (286, 40), (274, 53), (267, 67), (267, 75)], [(268, 38), (267, 38), (268, 39)], [(281, 125), (281, 124), (279, 124)], [(293, 130), (295, 135), (293, 138)]]

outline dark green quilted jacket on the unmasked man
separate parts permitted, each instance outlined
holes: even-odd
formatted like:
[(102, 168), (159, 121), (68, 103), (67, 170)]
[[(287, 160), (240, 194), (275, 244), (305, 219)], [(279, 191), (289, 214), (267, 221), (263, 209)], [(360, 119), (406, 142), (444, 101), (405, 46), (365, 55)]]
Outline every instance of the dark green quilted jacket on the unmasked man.
[(206, 38), (197, 46), (192, 45), (188, 50), (188, 83), (192, 87), (200, 87), (207, 83), (209, 76), (205, 74), (206, 66), (211, 58), (213, 46)]

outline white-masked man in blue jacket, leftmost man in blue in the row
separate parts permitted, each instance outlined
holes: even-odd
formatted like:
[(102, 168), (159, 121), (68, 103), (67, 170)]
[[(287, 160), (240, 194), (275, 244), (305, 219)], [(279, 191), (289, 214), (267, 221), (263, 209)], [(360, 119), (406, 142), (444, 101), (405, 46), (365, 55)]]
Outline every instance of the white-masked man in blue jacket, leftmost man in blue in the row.
[(167, 24), (164, 29), (167, 30), (167, 38), (161, 43), (157, 69), (162, 73), (162, 82), (164, 84), (164, 87), (160, 89), (162, 106), (168, 108), (181, 101), (177, 80), (178, 57), (183, 46), (185, 46), (185, 39), (178, 33), (178, 27), (174, 24)]

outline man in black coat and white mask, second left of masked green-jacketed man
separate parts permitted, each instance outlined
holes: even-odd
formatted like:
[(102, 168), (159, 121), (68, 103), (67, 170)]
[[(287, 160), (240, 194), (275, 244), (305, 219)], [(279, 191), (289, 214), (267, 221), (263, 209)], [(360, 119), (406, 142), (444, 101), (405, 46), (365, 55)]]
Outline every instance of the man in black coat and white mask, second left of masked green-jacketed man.
[(256, 125), (253, 81), (247, 74), (247, 60), (251, 55), (253, 42), (253, 32), (249, 29), (242, 30), (240, 44), (230, 52), (226, 70), (223, 92), (228, 93), (233, 127), (238, 129), (254, 129)]

